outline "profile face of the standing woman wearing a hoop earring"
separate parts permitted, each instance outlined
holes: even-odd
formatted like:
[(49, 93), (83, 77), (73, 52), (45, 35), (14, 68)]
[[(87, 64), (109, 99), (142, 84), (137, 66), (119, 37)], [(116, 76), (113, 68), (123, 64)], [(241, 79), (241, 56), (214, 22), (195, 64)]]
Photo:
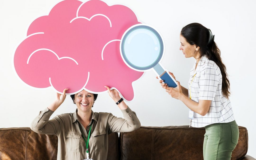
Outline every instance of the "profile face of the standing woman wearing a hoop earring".
[[(196, 45), (190, 45), (182, 35), (179, 36), (179, 40), (180, 40), (179, 50), (182, 50), (182, 53), (185, 55), (185, 57), (186, 58), (194, 57), (194, 52), (195, 50), (198, 50), (199, 47), (197, 48)], [(198, 54), (198, 52), (196, 52), (195, 54)], [(195, 55), (195, 56), (198, 57), (198, 55)]]

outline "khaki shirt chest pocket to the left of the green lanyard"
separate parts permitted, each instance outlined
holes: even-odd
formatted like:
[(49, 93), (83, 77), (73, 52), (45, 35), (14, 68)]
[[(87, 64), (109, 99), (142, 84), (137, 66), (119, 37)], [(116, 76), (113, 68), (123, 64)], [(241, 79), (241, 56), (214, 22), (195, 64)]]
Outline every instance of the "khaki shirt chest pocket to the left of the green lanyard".
[(67, 152), (80, 152), (81, 133), (65, 132)]

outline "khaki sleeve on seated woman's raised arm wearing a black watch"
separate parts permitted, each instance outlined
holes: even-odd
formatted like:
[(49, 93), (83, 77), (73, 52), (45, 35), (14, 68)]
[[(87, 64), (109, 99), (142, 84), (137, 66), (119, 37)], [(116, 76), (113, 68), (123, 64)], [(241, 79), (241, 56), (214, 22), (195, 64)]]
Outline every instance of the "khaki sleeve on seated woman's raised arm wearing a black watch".
[(109, 133), (113, 132), (131, 132), (141, 127), (140, 120), (135, 112), (129, 107), (121, 110), (124, 118), (118, 118), (112, 114), (108, 117)]

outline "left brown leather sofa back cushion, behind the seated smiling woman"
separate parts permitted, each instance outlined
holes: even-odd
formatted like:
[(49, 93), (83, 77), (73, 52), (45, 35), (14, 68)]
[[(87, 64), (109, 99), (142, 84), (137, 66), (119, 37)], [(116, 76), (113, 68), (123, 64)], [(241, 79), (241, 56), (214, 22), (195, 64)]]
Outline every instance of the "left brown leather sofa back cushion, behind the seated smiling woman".
[[(109, 134), (107, 160), (118, 160), (118, 133)], [(0, 159), (57, 159), (58, 137), (38, 134), (29, 127), (0, 129)]]

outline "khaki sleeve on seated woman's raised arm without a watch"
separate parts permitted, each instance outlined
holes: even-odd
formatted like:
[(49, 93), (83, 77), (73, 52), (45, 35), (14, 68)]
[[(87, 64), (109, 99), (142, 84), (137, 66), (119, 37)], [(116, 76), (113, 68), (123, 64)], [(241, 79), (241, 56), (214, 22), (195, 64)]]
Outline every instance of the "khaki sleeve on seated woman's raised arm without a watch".
[(60, 126), (59, 121), (56, 118), (49, 120), (53, 112), (48, 108), (40, 111), (39, 115), (32, 121), (30, 129), (39, 134), (57, 135)]

